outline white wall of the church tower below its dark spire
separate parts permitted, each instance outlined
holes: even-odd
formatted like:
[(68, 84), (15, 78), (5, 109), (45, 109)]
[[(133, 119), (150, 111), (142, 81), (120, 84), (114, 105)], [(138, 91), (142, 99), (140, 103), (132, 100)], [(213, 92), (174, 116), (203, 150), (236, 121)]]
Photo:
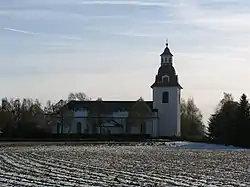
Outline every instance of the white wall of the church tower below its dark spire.
[[(169, 92), (169, 102), (162, 103), (163, 92)], [(180, 136), (180, 89), (178, 87), (154, 87), (153, 107), (158, 109), (158, 136)]]

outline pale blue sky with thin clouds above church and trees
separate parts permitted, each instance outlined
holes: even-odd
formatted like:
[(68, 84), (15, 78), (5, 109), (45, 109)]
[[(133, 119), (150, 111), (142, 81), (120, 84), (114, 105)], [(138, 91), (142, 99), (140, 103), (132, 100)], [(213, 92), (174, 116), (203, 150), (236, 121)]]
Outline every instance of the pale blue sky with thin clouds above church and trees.
[(204, 121), (250, 93), (248, 0), (0, 0), (0, 97), (152, 99), (168, 38)]

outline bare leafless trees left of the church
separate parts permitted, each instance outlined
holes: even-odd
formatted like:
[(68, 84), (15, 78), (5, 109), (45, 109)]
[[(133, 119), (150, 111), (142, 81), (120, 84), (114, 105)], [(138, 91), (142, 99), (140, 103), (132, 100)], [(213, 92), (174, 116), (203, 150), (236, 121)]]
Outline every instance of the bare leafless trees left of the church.
[(42, 106), (38, 99), (8, 99), (2, 98), (0, 104), (0, 133), (7, 137), (22, 137), (35, 132), (49, 133), (52, 119), (50, 115), (56, 113), (71, 100), (90, 100), (82, 92), (70, 93), (68, 99), (52, 103), (48, 100)]

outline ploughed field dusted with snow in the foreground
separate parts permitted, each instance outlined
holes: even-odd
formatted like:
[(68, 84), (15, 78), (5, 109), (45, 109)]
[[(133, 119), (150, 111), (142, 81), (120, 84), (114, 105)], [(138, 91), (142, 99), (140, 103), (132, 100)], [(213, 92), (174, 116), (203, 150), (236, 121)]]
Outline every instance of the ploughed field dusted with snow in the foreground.
[(249, 150), (202, 147), (6, 146), (0, 186), (250, 186)]

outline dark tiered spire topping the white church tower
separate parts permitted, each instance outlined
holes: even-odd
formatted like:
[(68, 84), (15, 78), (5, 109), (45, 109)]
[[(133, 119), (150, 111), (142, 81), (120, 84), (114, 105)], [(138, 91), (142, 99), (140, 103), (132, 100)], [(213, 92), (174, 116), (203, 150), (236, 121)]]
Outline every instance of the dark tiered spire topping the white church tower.
[(176, 75), (175, 68), (173, 67), (173, 54), (170, 52), (168, 42), (166, 42), (166, 47), (160, 56), (161, 66), (158, 70), (158, 74), (155, 77), (155, 82), (151, 87), (177, 86), (181, 88), (181, 85), (178, 82), (178, 75)]

